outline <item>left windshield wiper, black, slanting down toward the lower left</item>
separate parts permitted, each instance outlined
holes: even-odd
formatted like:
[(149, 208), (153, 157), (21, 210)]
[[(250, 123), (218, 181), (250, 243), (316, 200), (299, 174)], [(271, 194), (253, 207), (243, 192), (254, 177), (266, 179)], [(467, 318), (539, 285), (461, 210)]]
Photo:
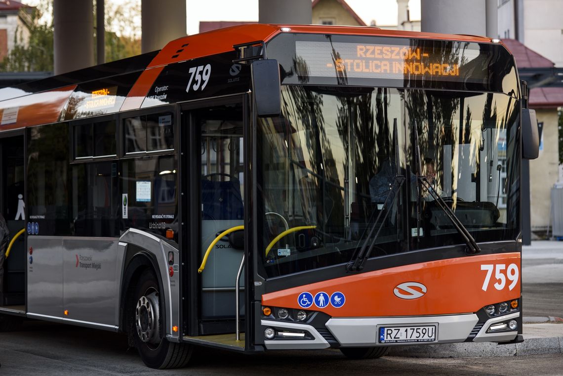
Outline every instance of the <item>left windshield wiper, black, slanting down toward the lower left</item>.
[[(392, 204), (395, 203), (395, 200), (399, 196), (399, 191), (401, 189), (401, 186), (403, 186), (403, 183), (405, 182), (405, 177), (400, 174), (401, 172), (400, 172), (400, 169), (399, 169), (399, 143), (398, 143), (398, 140), (399, 140), (399, 138), (397, 136), (397, 118), (395, 118), (395, 119), (393, 119), (393, 144), (395, 145), (395, 178), (393, 179), (393, 182), (391, 184), (391, 188), (389, 189), (389, 192), (387, 193), (387, 196), (386, 196), (385, 200), (383, 201), (383, 207), (382, 207), (381, 211), (379, 212), (379, 214), (377, 215), (376, 221), (373, 222), (372, 228), (369, 230), (368, 237), (365, 238), (364, 244), (362, 244), (358, 254), (354, 254), (354, 256), (352, 256), (352, 259), (350, 260), (350, 262), (348, 262), (346, 264), (346, 271), (348, 271), (348, 272), (359, 272), (359, 271), (363, 270), (365, 262), (369, 258), (369, 255), (372, 253), (373, 247), (376, 244), (376, 240), (377, 240), (377, 237), (379, 236), (379, 232), (381, 232), (381, 229), (383, 228), (383, 223), (385, 223), (385, 220), (387, 219), (387, 217), (389, 215), (390, 210), (388, 209), (388, 205), (389, 204), (392, 205)], [(389, 202), (391, 195), (394, 195), (394, 196), (393, 196), (391, 202)], [(379, 222), (379, 219), (381, 218), (381, 216), (383, 216), (383, 218), (382, 218), (381, 222)], [(375, 233), (375, 235), (373, 235), (374, 231), (376, 231), (377, 223), (379, 223), (379, 227), (377, 228), (377, 232)], [(365, 232), (364, 232), (364, 234), (365, 234)], [(373, 235), (373, 239), (372, 239), (372, 235)], [(362, 238), (363, 238), (363, 236), (362, 236)], [(372, 239), (371, 243), (369, 243), (369, 239)], [(368, 247), (368, 244), (369, 244), (369, 247)]]

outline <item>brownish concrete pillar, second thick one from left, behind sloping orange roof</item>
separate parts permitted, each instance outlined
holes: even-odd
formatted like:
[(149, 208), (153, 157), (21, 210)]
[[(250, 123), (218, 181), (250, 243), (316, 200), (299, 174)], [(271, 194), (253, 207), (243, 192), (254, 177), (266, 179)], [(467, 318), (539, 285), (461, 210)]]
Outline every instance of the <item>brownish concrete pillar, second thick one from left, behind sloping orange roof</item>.
[(186, 35), (186, 0), (141, 0), (141, 52)]

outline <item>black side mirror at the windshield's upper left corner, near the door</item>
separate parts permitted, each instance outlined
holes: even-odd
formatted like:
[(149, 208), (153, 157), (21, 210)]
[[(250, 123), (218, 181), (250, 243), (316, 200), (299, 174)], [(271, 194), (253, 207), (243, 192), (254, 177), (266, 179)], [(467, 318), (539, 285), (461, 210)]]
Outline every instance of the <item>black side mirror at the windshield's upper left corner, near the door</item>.
[(281, 112), (281, 83), (278, 60), (263, 59), (251, 64), (252, 93), (258, 117), (278, 116)]

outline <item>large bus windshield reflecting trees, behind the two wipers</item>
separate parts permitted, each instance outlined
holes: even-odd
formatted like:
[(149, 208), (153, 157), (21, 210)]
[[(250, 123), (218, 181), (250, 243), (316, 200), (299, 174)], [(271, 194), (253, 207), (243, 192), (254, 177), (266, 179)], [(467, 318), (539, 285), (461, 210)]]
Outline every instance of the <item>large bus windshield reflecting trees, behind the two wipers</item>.
[(257, 120), (267, 276), (346, 263), (366, 242), (371, 257), (463, 245), (437, 195), (477, 242), (515, 240), (518, 108), (504, 93), (283, 86), (282, 115)]

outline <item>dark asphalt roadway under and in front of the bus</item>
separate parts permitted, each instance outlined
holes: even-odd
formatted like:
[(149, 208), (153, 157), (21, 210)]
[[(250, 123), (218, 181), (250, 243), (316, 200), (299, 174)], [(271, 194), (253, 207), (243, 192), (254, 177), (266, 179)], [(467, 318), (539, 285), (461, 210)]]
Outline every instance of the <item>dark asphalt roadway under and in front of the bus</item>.
[(149, 375), (563, 375), (563, 354), (417, 359), (386, 356), (351, 361), (337, 350), (242, 355), (201, 349), (189, 368), (146, 368), (123, 335), (51, 323), (30, 323), (23, 332), (0, 333), (2, 376)]

